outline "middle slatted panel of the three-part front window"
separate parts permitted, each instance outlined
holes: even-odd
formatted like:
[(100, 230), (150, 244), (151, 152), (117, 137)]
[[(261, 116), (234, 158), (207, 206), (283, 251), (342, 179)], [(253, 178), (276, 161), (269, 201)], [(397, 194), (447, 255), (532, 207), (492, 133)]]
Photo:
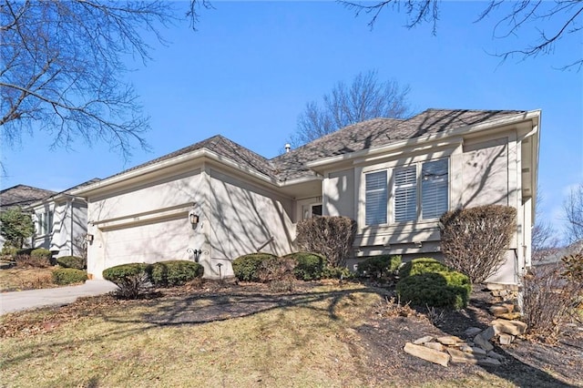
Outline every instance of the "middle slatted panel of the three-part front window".
[(417, 219), (417, 168), (409, 166), (394, 169), (394, 220)]

